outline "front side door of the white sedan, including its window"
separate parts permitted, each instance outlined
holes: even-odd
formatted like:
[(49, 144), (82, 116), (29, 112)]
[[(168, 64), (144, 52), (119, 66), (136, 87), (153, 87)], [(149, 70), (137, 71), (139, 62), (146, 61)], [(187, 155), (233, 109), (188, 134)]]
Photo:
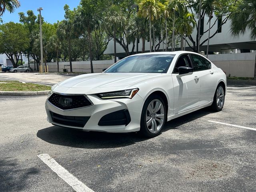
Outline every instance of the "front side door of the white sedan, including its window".
[(188, 54), (182, 54), (176, 61), (172, 72), (174, 87), (174, 114), (194, 108), (200, 96), (200, 83), (196, 72), (180, 75), (178, 68), (181, 66), (192, 67)]

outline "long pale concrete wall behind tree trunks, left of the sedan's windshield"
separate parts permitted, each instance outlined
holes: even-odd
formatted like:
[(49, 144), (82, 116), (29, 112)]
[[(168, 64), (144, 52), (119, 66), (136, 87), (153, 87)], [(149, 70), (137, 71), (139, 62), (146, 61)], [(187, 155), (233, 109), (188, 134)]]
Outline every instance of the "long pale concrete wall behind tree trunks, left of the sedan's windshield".
[[(46, 63), (49, 68), (49, 72), (57, 72), (57, 62)], [(114, 64), (114, 60), (101, 60), (92, 61), (94, 73), (101, 73), (102, 69), (108, 68)], [(67, 69), (70, 72), (69, 62), (59, 62), (59, 71), (63, 72), (63, 69)], [(74, 61), (72, 62), (73, 72), (90, 73), (90, 61)]]

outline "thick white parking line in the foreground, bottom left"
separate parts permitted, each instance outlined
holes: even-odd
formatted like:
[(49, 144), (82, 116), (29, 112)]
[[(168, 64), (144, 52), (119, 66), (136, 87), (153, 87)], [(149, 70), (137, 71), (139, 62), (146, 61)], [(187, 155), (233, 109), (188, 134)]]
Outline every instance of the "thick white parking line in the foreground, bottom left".
[(80, 182), (75, 176), (64, 169), (48, 154), (39, 154), (38, 157), (50, 167), (60, 178), (69, 184), (76, 192), (94, 192), (85, 184)]

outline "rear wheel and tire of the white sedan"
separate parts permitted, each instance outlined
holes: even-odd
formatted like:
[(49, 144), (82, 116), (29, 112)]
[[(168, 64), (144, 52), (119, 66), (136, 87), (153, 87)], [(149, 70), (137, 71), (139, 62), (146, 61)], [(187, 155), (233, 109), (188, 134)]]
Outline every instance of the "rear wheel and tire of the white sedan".
[(214, 111), (221, 111), (225, 102), (225, 88), (222, 84), (219, 84), (216, 88), (213, 103), (212, 103), (212, 110)]

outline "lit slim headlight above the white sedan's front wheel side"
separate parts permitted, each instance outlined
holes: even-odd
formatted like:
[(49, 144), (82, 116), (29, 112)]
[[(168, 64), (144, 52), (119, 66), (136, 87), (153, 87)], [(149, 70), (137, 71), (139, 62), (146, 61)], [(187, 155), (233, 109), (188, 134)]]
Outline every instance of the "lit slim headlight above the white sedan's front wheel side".
[(128, 89), (122, 91), (114, 91), (114, 92), (107, 92), (107, 93), (99, 93), (98, 96), (102, 99), (114, 99), (114, 98), (133, 98), (134, 95), (139, 91), (138, 88), (136, 89)]

